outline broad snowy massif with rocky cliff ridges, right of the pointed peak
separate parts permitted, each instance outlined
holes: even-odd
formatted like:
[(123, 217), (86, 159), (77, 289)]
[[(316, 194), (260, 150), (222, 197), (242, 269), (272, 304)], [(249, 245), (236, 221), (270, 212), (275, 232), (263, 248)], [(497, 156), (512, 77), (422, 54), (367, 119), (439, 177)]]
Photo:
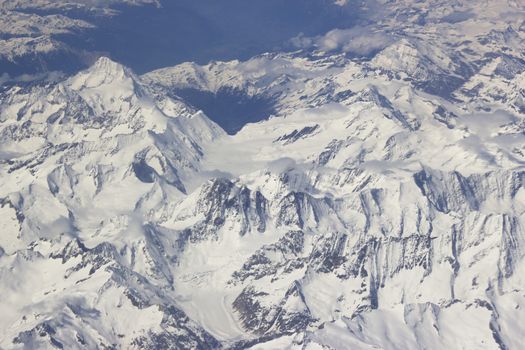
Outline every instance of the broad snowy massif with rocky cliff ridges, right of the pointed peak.
[[(498, 104), (478, 112), (338, 56), (280, 55), (215, 68), (220, 65), (146, 77), (168, 87), (233, 86), (276, 100), (277, 117), (204, 152), (206, 167), (229, 173), (205, 197), (224, 192), (238, 200), (246, 193), (247, 202), (234, 204), (239, 209), (230, 214), (222, 207), (205, 211), (218, 242), (193, 246), (181, 269), (205, 264), (202, 277), (184, 274), (175, 283), (192, 300), (184, 306), (190, 314), (219, 338), (239, 339), (238, 324), (224, 326), (231, 310), (194, 305), (212, 298), (210, 286), (218, 285), (214, 304), (232, 305), (244, 329), (263, 339), (295, 333), (268, 348), (518, 346), (523, 329), (514, 325), (524, 300), (514, 273), (522, 253), (514, 247), (524, 238), (523, 114)], [(188, 78), (193, 72), (202, 80)], [(222, 235), (215, 232), (217, 216)], [(261, 239), (245, 235), (247, 227), (259, 232), (261, 216), (268, 217), (265, 233), (281, 233), (248, 258), (225, 253), (233, 245), (243, 255), (246, 242)], [(201, 227), (190, 231), (199, 240)], [(232, 231), (243, 242), (230, 238)], [(510, 245), (505, 232), (513, 232)], [(500, 323), (500, 308), (514, 310), (509, 323)]]

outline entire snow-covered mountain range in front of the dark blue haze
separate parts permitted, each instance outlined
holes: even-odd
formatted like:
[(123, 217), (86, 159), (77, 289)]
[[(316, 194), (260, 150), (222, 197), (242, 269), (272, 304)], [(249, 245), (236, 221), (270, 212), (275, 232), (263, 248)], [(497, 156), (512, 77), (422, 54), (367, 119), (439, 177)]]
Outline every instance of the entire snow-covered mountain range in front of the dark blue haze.
[(520, 349), (525, 17), (477, 3), (3, 89), (0, 348)]

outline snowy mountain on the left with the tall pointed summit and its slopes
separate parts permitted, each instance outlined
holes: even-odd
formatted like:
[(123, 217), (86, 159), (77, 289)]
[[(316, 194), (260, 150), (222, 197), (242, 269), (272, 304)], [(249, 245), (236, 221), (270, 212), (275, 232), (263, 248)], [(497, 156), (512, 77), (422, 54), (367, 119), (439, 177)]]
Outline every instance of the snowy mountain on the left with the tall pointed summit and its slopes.
[(222, 130), (106, 58), (4, 98), (2, 347), (141, 347), (175, 326), (174, 344), (215, 344), (141, 273), (163, 276), (144, 220), (184, 196)]

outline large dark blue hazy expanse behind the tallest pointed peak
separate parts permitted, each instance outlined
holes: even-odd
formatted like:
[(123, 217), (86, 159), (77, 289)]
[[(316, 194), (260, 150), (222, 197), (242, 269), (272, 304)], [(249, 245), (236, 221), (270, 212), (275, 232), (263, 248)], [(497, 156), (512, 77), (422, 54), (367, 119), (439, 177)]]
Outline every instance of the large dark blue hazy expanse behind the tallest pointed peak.
[(346, 28), (357, 14), (328, 0), (171, 0), (122, 7), (112, 18), (90, 19), (97, 28), (66, 38), (79, 49), (109, 54), (142, 73), (185, 61), (248, 59), (291, 48), (299, 34)]

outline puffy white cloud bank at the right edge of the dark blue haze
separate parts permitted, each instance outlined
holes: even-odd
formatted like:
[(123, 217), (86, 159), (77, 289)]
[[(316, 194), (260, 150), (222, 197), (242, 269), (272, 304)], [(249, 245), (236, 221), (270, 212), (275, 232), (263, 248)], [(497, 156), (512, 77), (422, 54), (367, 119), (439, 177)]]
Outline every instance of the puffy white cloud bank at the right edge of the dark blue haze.
[(394, 37), (370, 28), (334, 29), (322, 36), (292, 39), (297, 48), (316, 48), (322, 51), (341, 51), (359, 56), (370, 56), (390, 45)]

